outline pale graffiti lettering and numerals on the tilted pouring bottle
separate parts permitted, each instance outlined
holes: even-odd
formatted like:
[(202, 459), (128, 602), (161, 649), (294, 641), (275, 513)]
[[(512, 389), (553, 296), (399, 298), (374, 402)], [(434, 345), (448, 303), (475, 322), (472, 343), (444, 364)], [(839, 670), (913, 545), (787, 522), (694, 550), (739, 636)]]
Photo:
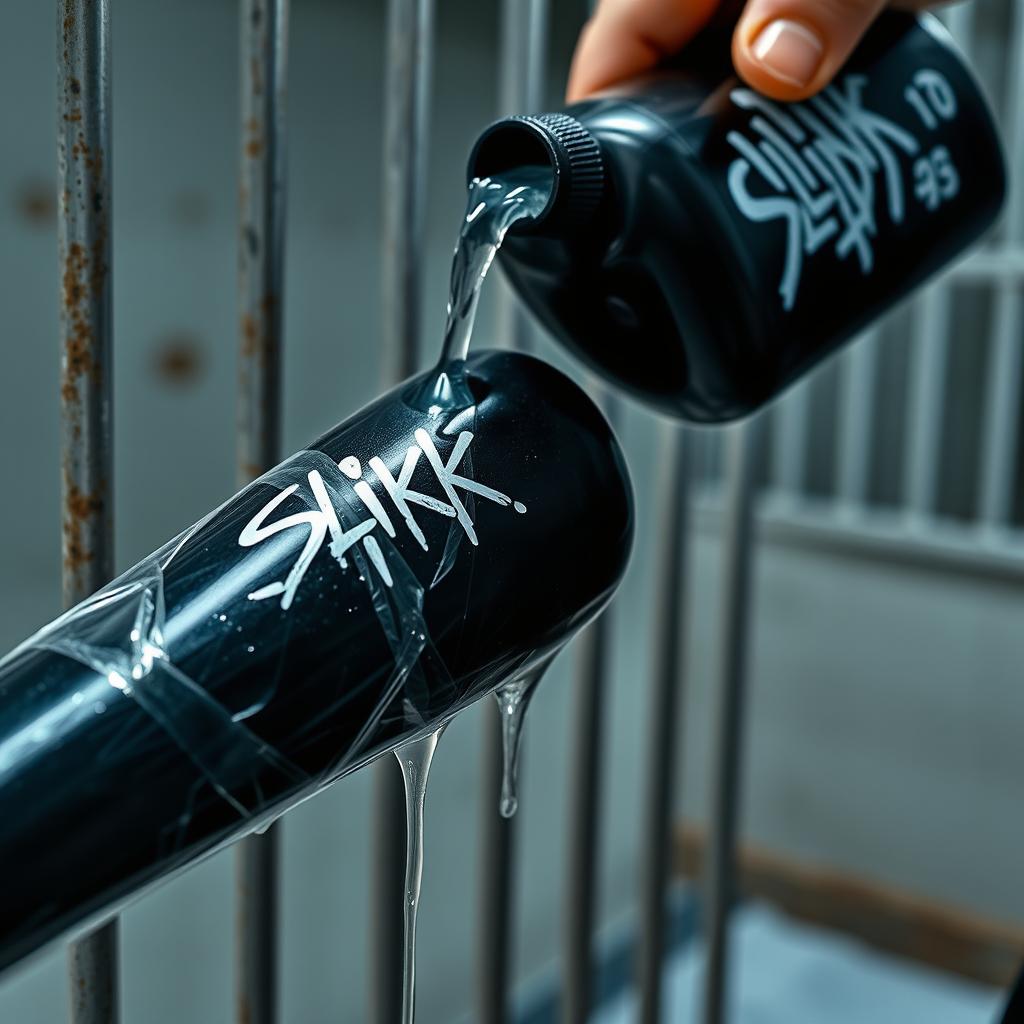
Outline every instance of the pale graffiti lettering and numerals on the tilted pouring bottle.
[[(871, 272), (879, 212), (893, 224), (905, 215), (905, 160), (912, 160), (913, 197), (927, 210), (959, 190), (948, 150), (921, 154), (914, 134), (864, 105), (866, 85), (864, 76), (848, 75), (803, 103), (773, 102), (751, 89), (730, 93), (753, 117), (750, 137), (738, 130), (726, 136), (737, 154), (729, 191), (749, 220), (785, 225), (778, 292), (786, 310), (796, 302), (804, 260), (826, 243), (838, 259), (853, 256), (861, 273)], [(956, 114), (952, 88), (932, 69), (914, 73), (903, 98), (930, 131)]]

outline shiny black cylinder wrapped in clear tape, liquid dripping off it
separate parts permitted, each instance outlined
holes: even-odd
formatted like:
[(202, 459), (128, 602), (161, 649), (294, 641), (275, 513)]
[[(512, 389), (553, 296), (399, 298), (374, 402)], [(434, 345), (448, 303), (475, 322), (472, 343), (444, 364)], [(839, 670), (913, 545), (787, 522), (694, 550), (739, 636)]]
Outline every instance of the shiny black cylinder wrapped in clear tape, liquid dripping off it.
[[(472, 409), (419, 412), (402, 399), (423, 378), (407, 383), (0, 665), (0, 967), (436, 728), (610, 596), (633, 512), (601, 414), (527, 356), (481, 353), (467, 368)], [(409, 486), (454, 509), (418, 429), (442, 462), (471, 432), (452, 472), (525, 510), (456, 481), (477, 544), (413, 504), (424, 550), (369, 466), (379, 457), (398, 478), (419, 451)], [(393, 539), (339, 468), (354, 472), (350, 457)], [(328, 534), (289, 607), (253, 598), (324, 521), (313, 471), (342, 528), (376, 521), (367, 536), (391, 584), (361, 539), (343, 569)], [(240, 545), (254, 519), (288, 516), (307, 519)]]

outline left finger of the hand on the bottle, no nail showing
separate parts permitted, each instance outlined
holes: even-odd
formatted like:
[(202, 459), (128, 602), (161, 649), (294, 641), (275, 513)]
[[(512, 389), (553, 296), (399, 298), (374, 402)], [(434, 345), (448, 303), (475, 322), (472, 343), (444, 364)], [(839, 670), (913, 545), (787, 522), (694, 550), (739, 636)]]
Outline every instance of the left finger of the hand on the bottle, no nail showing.
[(601, 0), (572, 57), (571, 103), (678, 53), (708, 24), (719, 0)]

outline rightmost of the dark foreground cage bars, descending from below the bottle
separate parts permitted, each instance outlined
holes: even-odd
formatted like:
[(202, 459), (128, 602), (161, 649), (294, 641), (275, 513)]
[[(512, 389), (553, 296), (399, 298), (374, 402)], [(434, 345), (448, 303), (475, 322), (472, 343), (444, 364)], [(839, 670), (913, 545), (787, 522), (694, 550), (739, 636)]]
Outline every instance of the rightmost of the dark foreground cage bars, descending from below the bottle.
[(732, 428), (727, 437), (718, 651), (720, 675), (712, 748), (710, 849), (705, 901), (708, 936), (705, 1024), (722, 1024), (725, 1019), (728, 926), (736, 886), (736, 830), (750, 640), (754, 473), (761, 424), (762, 420), (756, 418)]

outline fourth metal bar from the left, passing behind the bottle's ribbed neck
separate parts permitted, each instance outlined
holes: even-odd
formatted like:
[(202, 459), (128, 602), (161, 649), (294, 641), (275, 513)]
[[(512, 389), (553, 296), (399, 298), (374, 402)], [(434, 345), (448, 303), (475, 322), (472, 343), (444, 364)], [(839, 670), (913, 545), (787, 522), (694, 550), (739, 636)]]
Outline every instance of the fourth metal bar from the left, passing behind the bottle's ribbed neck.
[[(540, 103), (547, 29), (548, 0), (503, 0), (499, 115), (532, 111)], [(529, 321), (505, 282), (499, 286), (496, 315), (498, 336), (513, 348), (528, 349)], [(502, 817), (497, 798), (502, 784), (500, 717), (487, 716), (485, 729), (476, 1009), (481, 1024), (504, 1024), (512, 976), (515, 818)]]

